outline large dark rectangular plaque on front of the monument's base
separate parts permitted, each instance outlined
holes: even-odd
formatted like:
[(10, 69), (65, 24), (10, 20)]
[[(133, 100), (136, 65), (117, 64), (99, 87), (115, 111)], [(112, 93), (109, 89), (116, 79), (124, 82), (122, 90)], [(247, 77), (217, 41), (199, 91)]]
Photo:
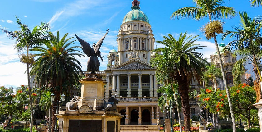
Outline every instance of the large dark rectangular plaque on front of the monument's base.
[(102, 132), (102, 120), (69, 120), (68, 132)]

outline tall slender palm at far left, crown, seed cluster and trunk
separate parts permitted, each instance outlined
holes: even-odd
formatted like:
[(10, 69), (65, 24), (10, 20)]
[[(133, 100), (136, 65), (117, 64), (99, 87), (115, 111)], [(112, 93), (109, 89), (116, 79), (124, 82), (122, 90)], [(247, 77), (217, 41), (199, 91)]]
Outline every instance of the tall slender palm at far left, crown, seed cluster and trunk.
[(22, 52), (26, 50), (27, 54), (20, 54), (20, 61), (27, 65), (27, 83), (29, 89), (29, 103), (30, 103), (30, 111), (31, 111), (31, 122), (30, 122), (30, 132), (32, 132), (33, 128), (33, 105), (32, 105), (32, 91), (30, 85), (30, 75), (29, 75), (29, 67), (34, 62), (34, 56), (29, 54), (29, 48), (33, 48), (35, 46), (40, 45), (43, 42), (49, 40), (48, 35), (46, 35), (46, 31), (49, 30), (48, 23), (41, 23), (40, 26), (35, 26), (31, 31), (27, 25), (22, 24), (21, 20), (16, 16), (17, 24), (20, 26), (20, 31), (8, 31), (5, 29), (2, 30), (7, 36), (11, 36), (12, 39), (16, 39), (15, 49), (17, 52)]

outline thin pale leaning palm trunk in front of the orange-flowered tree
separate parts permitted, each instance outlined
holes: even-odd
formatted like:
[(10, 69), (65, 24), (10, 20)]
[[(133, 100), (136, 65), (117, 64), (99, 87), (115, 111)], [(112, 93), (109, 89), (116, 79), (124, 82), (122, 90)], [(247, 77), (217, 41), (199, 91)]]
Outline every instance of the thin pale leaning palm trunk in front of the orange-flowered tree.
[(223, 81), (224, 81), (225, 88), (226, 88), (226, 95), (227, 95), (229, 109), (230, 109), (230, 114), (231, 114), (232, 123), (233, 123), (233, 132), (236, 132), (235, 116), (234, 116), (234, 112), (233, 112), (232, 102), (231, 102), (231, 99), (230, 99), (230, 93), (229, 93), (227, 82), (226, 82), (226, 75), (225, 75), (225, 71), (224, 71), (224, 66), (223, 66), (223, 62), (222, 62), (222, 59), (221, 59), (221, 54), (220, 54), (220, 51), (219, 51), (219, 48), (218, 48), (218, 45), (217, 45), (216, 34), (215, 33), (213, 33), (213, 38), (215, 40), (216, 52), (217, 52), (217, 55), (218, 55), (218, 58), (219, 58), (220, 69), (221, 69), (221, 72), (222, 72)]

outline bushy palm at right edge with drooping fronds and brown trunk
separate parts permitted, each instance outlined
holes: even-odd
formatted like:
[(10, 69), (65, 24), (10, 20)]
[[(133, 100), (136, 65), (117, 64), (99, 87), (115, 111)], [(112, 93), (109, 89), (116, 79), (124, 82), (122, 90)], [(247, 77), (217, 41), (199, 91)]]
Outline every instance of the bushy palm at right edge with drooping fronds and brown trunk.
[(262, 81), (262, 77), (259, 63), (257, 63), (259, 58), (257, 57), (261, 57), (262, 36), (260, 35), (260, 28), (262, 24), (262, 16), (251, 18), (245, 11), (239, 12), (239, 15), (241, 27), (233, 27), (234, 31), (226, 30), (222, 35), (222, 40), (224, 40), (228, 35), (230, 35), (230, 38), (235, 38), (228, 43), (225, 50), (250, 52), (255, 64), (254, 67), (259, 75), (259, 79), (257, 78), (255, 82), (256, 84), (259, 84), (259, 81)]

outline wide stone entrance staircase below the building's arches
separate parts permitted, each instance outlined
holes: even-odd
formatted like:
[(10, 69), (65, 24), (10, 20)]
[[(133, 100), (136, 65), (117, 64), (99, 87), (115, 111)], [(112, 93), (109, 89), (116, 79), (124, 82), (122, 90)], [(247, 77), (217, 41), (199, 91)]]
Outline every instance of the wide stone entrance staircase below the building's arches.
[(120, 132), (159, 132), (157, 125), (121, 125)]

